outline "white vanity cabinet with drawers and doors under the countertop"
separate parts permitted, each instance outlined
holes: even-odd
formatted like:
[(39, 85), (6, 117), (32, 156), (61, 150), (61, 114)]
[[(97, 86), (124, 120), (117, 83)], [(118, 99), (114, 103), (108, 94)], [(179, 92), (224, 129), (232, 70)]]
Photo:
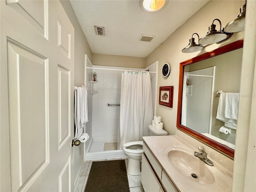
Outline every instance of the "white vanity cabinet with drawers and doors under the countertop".
[(141, 183), (145, 192), (178, 192), (174, 184), (154, 157), (149, 148), (143, 143)]

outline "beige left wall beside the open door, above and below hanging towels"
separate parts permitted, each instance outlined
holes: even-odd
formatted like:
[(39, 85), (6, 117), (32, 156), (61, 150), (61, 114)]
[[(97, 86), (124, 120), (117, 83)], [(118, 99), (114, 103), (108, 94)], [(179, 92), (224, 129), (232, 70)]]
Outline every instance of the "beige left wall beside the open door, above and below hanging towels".
[[(74, 59), (74, 85), (82, 86), (84, 84), (84, 54), (92, 58), (92, 51), (82, 32), (82, 28), (76, 18), (74, 10), (68, 0), (60, 0), (66, 14), (75, 30), (75, 59)], [(75, 185), (75, 179), (79, 172), (80, 166), (84, 160), (84, 145), (74, 146), (72, 148), (72, 183)]]

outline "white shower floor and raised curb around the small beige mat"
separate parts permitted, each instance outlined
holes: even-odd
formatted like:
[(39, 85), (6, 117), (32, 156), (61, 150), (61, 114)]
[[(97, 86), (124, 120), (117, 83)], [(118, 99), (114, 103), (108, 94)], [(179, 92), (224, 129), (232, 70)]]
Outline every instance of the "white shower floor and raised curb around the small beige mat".
[(123, 150), (104, 151), (104, 143), (116, 142), (116, 138), (112, 137), (94, 137), (90, 141), (86, 150), (84, 159), (88, 160), (108, 160), (115, 158), (127, 158)]

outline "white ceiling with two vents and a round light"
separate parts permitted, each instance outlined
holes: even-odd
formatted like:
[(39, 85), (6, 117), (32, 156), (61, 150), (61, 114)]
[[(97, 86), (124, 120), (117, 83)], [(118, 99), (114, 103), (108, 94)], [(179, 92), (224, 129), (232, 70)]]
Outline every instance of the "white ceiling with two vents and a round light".
[[(139, 0), (70, 0), (92, 53), (146, 57), (208, 0), (169, 0), (164, 9), (148, 13)], [(105, 28), (96, 35), (94, 26)], [(141, 35), (155, 36), (151, 42)]]

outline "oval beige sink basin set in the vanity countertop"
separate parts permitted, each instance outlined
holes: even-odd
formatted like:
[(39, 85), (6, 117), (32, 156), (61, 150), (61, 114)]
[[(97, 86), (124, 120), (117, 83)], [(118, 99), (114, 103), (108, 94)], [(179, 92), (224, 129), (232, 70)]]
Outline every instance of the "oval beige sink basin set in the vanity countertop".
[(194, 156), (194, 151), (182, 147), (167, 147), (164, 156), (170, 165), (180, 174), (193, 179), (195, 182), (210, 185), (215, 179), (210, 167)]

